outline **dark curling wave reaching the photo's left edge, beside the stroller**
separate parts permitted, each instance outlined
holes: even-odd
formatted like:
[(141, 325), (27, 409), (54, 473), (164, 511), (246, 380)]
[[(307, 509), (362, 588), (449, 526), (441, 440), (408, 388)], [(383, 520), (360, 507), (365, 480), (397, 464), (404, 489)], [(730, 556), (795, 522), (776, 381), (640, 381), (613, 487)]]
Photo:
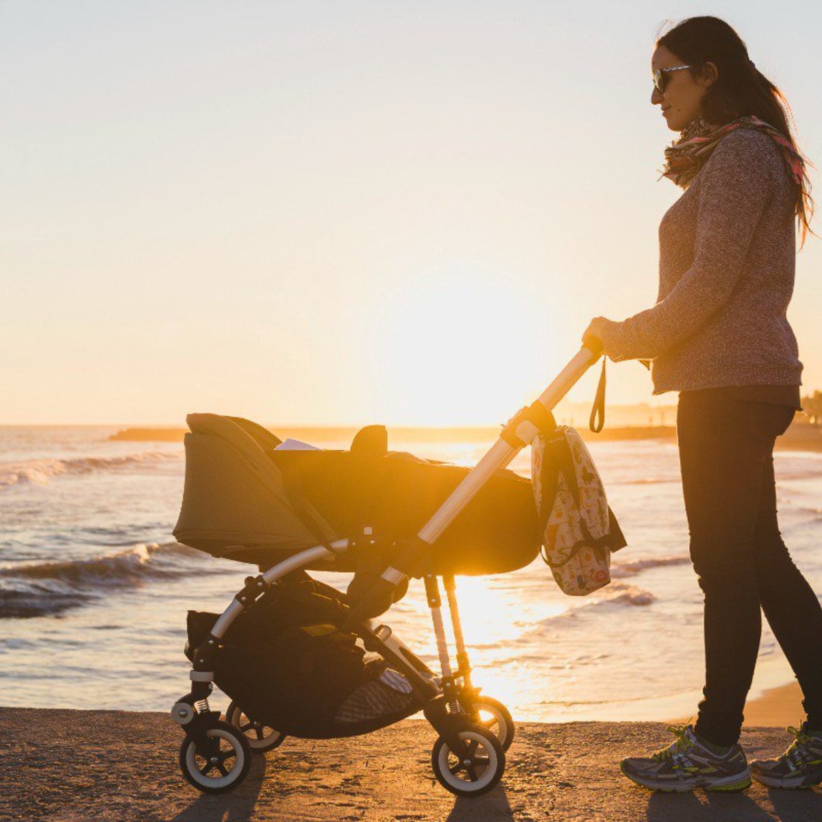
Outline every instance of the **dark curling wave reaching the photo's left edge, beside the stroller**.
[[(48, 617), (80, 607), (107, 591), (151, 580), (178, 579), (191, 573), (202, 556), (180, 543), (139, 544), (88, 560), (42, 562), (0, 569), (0, 619)], [(222, 572), (218, 568), (198, 573)]]

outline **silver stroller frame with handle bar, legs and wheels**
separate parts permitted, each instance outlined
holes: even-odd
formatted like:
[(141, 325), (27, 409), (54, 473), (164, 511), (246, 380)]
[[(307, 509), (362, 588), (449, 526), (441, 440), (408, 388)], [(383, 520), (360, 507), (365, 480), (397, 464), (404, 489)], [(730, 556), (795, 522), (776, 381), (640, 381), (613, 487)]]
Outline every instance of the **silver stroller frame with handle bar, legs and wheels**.
[[(601, 348), (592, 340), (562, 369), (552, 383), (531, 405), (516, 413), (503, 427), (499, 439), (465, 476), (459, 486), (440, 506), (417, 535), (417, 542), (426, 548), (441, 536), (460, 511), (471, 501), (492, 474), (504, 469), (515, 456), (529, 446), (536, 436), (556, 423), (552, 409), (566, 395), (576, 381), (596, 363)], [(376, 545), (379, 535), (365, 529), (364, 538)], [(354, 547), (354, 540), (338, 539), (328, 547), (317, 545), (289, 556), (256, 577), (249, 576), (246, 584), (233, 598), (211, 629), (210, 635), (196, 648), (189, 677), (192, 689), (173, 705), (171, 715), (186, 733), (180, 749), (180, 767), (183, 776), (203, 792), (224, 792), (236, 787), (246, 777), (251, 766), (252, 748), (263, 751), (278, 746), (284, 739), (276, 729), (266, 736), (261, 725), (250, 722), (242, 727), (242, 708), (232, 703), (227, 719), (220, 720), (219, 711), (210, 709), (208, 698), (213, 690), (215, 657), (219, 642), (229, 626), (247, 607), (252, 606), (272, 586), (296, 570), (310, 566), (323, 558), (330, 558)], [(381, 593), (389, 592), (404, 583), (404, 570), (388, 567), (378, 583)], [(431, 609), (436, 637), (436, 648), (441, 666), (441, 677), (420, 660), (390, 627), (376, 620), (358, 617), (358, 607), (349, 611), (346, 628), (357, 635), (365, 648), (379, 653), (390, 667), (401, 672), (409, 681), (420, 709), (439, 734), (432, 750), (432, 769), (443, 787), (458, 796), (479, 796), (496, 785), (505, 771), (505, 750), (513, 739), (514, 725), (510, 713), (496, 700), (480, 695), (471, 681), (469, 656), (465, 648), (453, 575), (444, 576), (446, 599), (456, 646), (456, 668), (451, 665), (450, 650), (442, 616), (440, 585), (436, 575), (427, 574), (425, 582), (427, 604)], [(492, 720), (480, 723), (480, 713), (491, 713)], [(496, 723), (497, 731), (491, 726)], [(244, 731), (256, 732), (256, 740)], [(214, 772), (219, 775), (213, 775)]]

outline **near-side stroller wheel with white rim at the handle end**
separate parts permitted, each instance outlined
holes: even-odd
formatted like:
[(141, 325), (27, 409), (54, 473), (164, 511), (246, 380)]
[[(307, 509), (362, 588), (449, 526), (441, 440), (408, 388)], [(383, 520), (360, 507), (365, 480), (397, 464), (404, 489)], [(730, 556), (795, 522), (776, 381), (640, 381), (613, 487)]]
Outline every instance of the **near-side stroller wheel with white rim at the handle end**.
[(439, 737), (431, 752), (431, 766), (442, 787), (458, 797), (478, 797), (500, 781), (506, 769), (506, 752), (496, 734), (482, 725), (469, 724), (459, 731), (468, 743), (468, 755), (462, 760)]

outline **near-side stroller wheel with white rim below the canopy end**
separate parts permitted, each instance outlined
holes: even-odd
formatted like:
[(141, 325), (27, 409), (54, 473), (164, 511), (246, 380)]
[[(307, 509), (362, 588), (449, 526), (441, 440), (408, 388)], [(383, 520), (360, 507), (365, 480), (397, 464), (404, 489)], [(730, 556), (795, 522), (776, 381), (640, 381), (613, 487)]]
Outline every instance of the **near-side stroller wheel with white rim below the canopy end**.
[(245, 735), (227, 722), (218, 722), (206, 734), (217, 740), (217, 755), (198, 750), (191, 737), (180, 746), (182, 775), (205, 793), (222, 793), (237, 787), (252, 764), (252, 749)]

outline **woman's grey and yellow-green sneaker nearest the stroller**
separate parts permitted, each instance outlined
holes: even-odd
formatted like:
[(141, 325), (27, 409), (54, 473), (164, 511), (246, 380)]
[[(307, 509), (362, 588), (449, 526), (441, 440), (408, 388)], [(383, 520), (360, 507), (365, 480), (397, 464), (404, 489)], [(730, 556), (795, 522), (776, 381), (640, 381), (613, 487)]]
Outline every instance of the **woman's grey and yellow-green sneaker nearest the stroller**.
[(620, 769), (632, 782), (652, 791), (741, 791), (750, 785), (750, 771), (739, 745), (714, 754), (695, 737), (692, 725), (669, 725), (677, 739), (650, 757), (629, 756)]

